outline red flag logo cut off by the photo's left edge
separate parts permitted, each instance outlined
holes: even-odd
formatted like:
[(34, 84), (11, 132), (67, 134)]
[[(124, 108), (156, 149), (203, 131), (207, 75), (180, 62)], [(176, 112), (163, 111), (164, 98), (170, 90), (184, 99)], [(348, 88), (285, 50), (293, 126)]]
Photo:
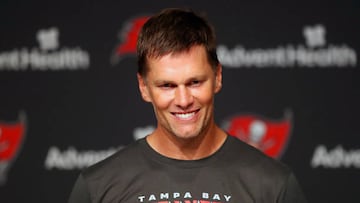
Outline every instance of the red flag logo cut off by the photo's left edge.
[(0, 185), (5, 184), (7, 172), (20, 151), (25, 137), (25, 115), (16, 122), (0, 121)]

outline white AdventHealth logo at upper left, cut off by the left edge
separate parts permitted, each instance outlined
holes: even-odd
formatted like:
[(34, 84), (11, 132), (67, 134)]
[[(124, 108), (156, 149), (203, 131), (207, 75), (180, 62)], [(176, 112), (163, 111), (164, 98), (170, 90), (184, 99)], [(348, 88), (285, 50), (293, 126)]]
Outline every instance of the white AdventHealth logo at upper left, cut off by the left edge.
[(61, 47), (59, 33), (56, 27), (41, 29), (36, 33), (39, 47), (0, 52), (0, 71), (88, 69), (89, 53), (80, 47)]

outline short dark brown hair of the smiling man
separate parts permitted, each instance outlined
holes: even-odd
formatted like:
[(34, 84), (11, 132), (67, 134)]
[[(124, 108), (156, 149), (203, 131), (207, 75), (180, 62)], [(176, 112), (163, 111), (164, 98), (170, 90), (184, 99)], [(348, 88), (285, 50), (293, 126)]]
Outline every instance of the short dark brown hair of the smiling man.
[(213, 27), (191, 10), (169, 8), (152, 16), (142, 27), (137, 41), (138, 73), (146, 76), (147, 59), (204, 46), (214, 70), (219, 65)]

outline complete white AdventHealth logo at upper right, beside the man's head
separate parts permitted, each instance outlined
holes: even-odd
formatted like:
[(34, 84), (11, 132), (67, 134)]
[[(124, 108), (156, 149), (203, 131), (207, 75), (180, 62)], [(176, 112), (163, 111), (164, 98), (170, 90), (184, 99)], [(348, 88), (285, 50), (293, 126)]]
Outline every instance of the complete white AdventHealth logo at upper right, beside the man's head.
[(322, 24), (305, 26), (306, 45), (278, 46), (270, 49), (246, 49), (237, 45), (233, 49), (219, 45), (217, 54), (227, 68), (329, 68), (356, 67), (356, 51), (345, 45), (326, 44), (326, 29)]

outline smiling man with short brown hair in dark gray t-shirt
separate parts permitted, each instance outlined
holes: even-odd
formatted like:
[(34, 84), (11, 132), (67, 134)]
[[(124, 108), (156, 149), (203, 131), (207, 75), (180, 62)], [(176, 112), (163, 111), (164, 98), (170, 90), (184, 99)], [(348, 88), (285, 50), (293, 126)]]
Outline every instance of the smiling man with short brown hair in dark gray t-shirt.
[(214, 122), (222, 68), (204, 18), (166, 9), (145, 23), (137, 48), (139, 89), (157, 128), (84, 170), (70, 203), (306, 202), (286, 166)]

